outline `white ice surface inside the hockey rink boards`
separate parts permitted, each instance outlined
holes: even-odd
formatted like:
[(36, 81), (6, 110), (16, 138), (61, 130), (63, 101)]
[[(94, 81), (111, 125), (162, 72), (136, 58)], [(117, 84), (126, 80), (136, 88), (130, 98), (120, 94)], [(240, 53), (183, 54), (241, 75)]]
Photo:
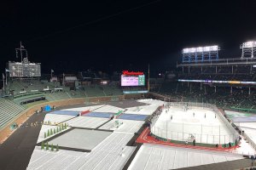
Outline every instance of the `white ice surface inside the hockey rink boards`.
[(200, 143), (226, 144), (235, 141), (233, 134), (218, 114), (202, 108), (189, 108), (188, 111), (177, 107), (164, 109), (152, 131), (162, 138), (182, 141), (193, 140), (189, 138), (192, 134), (196, 142)]

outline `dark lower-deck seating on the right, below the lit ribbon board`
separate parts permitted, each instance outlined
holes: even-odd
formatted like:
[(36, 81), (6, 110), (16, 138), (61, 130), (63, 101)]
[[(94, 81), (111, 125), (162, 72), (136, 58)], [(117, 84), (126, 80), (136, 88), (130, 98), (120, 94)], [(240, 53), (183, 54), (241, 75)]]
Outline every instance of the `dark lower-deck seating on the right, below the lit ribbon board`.
[[(189, 85), (188, 85), (189, 84)], [(256, 108), (255, 88), (252, 93), (248, 94), (248, 88), (233, 87), (232, 94), (230, 86), (216, 85), (216, 93), (214, 85), (193, 82), (163, 82), (159, 89), (154, 92), (167, 94), (172, 99), (182, 99), (183, 101), (212, 103), (223, 107), (224, 109), (243, 108), (253, 110)]]

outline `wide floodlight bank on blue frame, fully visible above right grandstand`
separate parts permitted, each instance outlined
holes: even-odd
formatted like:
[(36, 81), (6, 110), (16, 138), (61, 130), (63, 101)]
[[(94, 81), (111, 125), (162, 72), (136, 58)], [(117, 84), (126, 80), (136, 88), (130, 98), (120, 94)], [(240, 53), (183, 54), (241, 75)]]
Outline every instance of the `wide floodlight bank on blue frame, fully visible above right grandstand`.
[(218, 45), (198, 47), (198, 48), (183, 48), (183, 62), (202, 62), (218, 60)]

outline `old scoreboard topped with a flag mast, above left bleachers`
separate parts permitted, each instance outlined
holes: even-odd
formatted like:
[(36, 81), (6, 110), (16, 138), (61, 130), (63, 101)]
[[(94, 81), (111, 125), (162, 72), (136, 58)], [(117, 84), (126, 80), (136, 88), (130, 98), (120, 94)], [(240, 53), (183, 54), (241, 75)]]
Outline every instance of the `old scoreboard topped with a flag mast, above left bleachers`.
[[(12, 78), (29, 78), (41, 77), (41, 63), (32, 63), (28, 61), (27, 52), (20, 42), (20, 48), (16, 48), (16, 58), (20, 54), (21, 61), (9, 61), (9, 77)], [(24, 56), (25, 54), (25, 56)], [(23, 57), (24, 56), (24, 57)]]

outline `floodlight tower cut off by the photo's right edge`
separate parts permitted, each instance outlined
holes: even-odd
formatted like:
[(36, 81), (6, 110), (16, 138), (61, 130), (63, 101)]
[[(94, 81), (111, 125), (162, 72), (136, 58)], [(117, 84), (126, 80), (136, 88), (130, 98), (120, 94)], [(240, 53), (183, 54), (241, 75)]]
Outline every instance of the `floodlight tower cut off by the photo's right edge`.
[(241, 48), (241, 59), (253, 58), (256, 54), (256, 42), (243, 42), (240, 45)]

